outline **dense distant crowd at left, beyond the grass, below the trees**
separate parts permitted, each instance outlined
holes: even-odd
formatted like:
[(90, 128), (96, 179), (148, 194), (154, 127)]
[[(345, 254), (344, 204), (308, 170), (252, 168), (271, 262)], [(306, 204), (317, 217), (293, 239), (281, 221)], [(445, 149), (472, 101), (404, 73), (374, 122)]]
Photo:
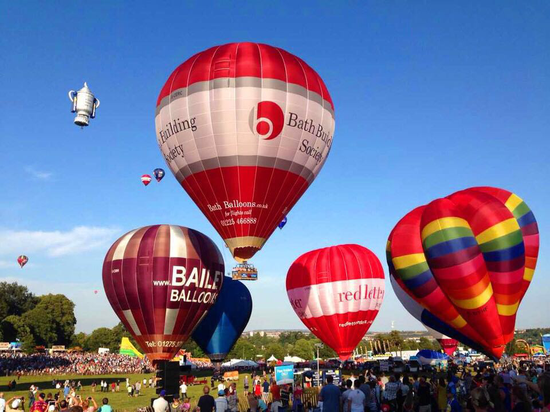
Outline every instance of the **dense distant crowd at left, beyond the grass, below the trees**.
[(101, 375), (108, 373), (148, 373), (153, 370), (144, 359), (118, 354), (55, 352), (27, 355), (0, 353), (0, 375)]

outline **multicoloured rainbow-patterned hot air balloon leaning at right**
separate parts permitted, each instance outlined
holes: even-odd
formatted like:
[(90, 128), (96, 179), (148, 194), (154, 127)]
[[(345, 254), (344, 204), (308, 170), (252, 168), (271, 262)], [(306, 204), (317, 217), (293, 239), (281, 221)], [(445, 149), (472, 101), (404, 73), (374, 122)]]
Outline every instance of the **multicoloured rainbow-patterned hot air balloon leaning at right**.
[(537, 223), (521, 198), (475, 187), (407, 214), (387, 252), (401, 289), (455, 333), (428, 326), (497, 359), (514, 336), (538, 249)]

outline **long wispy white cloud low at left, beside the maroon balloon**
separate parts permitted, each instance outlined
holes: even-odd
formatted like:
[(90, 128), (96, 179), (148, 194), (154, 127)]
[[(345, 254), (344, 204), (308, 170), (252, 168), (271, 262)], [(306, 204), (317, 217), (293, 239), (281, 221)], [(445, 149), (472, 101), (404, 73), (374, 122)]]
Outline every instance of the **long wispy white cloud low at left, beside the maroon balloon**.
[(93, 226), (77, 226), (66, 232), (0, 230), (0, 255), (34, 252), (51, 257), (74, 255), (108, 246), (117, 233), (116, 228)]

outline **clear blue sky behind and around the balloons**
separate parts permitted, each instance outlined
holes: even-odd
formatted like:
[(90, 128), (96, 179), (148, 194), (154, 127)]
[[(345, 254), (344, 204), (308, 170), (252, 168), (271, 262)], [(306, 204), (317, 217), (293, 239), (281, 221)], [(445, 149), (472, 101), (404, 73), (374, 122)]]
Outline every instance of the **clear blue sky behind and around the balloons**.
[[(169, 172), (147, 188), (140, 176), (164, 167), (154, 112), (172, 70), (208, 47), (255, 41), (321, 75), (336, 133), (324, 170), (253, 259), (249, 329), (302, 327), (284, 287), (302, 253), (359, 243), (384, 262), (405, 213), (474, 185), (514, 191), (535, 212), (540, 259), (517, 326), (548, 327), (549, 16), (544, 0), (4, 2), (0, 278), (65, 293), (89, 332), (117, 322), (101, 265), (121, 234), (173, 223), (222, 248)], [(101, 107), (80, 130), (67, 92), (84, 81)], [(421, 329), (386, 288), (371, 330)]]

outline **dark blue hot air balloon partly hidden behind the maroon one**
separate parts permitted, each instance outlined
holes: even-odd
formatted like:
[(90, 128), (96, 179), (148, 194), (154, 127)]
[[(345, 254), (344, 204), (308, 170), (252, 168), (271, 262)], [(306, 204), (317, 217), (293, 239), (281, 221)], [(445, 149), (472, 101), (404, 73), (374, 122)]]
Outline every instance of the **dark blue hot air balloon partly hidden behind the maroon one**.
[(252, 296), (237, 280), (225, 277), (216, 304), (192, 338), (212, 362), (222, 362), (241, 336), (252, 314)]

